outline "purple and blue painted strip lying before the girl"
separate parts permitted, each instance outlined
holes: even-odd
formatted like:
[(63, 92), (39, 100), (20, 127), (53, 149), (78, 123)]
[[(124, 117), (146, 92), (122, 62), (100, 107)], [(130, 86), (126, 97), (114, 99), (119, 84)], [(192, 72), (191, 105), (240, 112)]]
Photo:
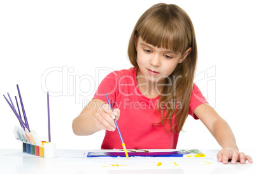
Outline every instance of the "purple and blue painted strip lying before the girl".
[[(173, 152), (128, 152), (129, 156), (139, 157), (183, 157), (183, 151)], [(126, 157), (125, 152), (88, 152), (87, 157)]]

